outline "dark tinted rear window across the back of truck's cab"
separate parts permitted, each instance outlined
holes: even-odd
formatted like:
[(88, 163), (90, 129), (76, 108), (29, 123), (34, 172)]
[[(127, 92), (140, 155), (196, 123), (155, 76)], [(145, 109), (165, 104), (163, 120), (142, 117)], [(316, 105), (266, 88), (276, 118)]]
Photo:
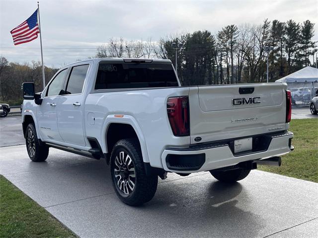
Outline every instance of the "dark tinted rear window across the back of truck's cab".
[(95, 89), (178, 86), (171, 65), (99, 64)]

